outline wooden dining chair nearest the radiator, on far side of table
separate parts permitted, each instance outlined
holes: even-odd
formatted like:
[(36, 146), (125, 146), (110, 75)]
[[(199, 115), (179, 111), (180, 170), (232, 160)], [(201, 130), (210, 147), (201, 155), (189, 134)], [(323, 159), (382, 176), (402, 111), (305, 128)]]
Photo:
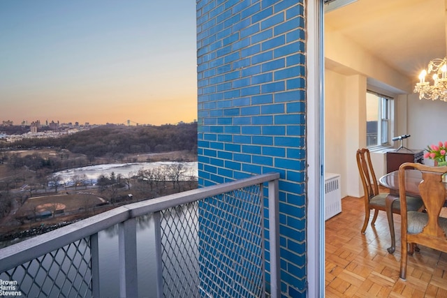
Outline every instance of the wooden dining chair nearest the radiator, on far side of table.
[[(379, 184), (377, 184), (376, 174), (374, 173), (374, 168), (372, 167), (371, 155), (368, 149), (358, 149), (357, 154), (357, 165), (358, 171), (360, 173), (360, 179), (362, 180), (363, 191), (365, 192), (365, 221), (362, 226), (362, 233), (365, 234), (369, 222), (370, 211), (374, 209), (374, 216), (372, 218), (371, 225), (374, 225), (376, 218), (379, 214), (379, 210), (387, 210), (387, 200), (388, 208), (391, 212), (387, 213), (388, 225), (390, 228), (391, 236), (391, 247), (388, 248), (389, 253), (394, 253), (395, 251), (395, 232), (394, 232), (394, 222), (393, 213), (400, 214), (400, 201), (398, 194), (390, 193), (379, 193)], [(417, 211), (422, 209), (423, 202), (420, 198), (407, 196), (406, 198), (407, 209)]]

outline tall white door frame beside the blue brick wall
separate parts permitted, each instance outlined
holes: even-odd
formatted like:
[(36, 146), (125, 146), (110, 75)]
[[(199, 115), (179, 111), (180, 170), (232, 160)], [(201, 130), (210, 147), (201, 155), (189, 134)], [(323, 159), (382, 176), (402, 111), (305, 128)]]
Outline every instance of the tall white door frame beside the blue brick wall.
[[(325, 296), (323, 0), (306, 3), (307, 297)], [(312, 149), (314, 148), (314, 149)]]

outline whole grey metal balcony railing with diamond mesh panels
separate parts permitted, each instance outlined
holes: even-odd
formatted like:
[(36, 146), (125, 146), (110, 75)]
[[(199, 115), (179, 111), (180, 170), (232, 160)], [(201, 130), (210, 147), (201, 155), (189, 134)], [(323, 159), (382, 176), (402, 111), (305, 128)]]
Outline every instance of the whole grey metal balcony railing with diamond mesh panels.
[(98, 232), (118, 225), (117, 297), (138, 297), (137, 221), (149, 216), (155, 287), (140, 296), (279, 297), (278, 179), (263, 174), (136, 202), (2, 248), (2, 294), (101, 297), (100, 276), (109, 273), (100, 271)]

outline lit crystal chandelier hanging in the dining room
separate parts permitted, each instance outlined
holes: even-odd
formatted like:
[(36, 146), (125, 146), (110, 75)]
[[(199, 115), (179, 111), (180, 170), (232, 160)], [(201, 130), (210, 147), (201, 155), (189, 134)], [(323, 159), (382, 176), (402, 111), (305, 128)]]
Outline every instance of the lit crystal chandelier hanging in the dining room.
[[(430, 82), (425, 82), (427, 73), (434, 73)], [(414, 87), (414, 93), (419, 93), (419, 99), (444, 100), (447, 101), (447, 58), (433, 59), (428, 64), (428, 70), (422, 70), (419, 82)]]

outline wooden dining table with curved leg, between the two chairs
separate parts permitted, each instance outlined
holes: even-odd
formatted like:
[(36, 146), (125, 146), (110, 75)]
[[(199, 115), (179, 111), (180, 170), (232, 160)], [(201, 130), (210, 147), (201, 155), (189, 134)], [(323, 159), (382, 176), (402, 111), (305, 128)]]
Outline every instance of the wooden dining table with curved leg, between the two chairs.
[[(422, 181), (422, 172), (419, 170), (405, 170), (405, 192), (406, 195), (420, 197), (419, 184)], [(390, 190), (390, 194), (385, 199), (386, 216), (390, 226), (391, 246), (387, 248), (388, 253), (394, 253), (396, 239), (393, 221), (393, 203), (399, 198), (399, 170), (389, 172), (379, 179), (379, 184)], [(446, 184), (447, 187), (447, 184)]]

